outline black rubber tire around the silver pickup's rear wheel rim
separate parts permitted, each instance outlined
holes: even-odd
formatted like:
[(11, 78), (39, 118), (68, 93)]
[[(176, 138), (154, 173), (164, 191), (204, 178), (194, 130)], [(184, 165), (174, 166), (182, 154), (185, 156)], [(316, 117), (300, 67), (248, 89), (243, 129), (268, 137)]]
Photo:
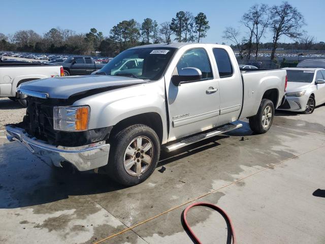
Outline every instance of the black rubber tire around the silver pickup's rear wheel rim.
[[(266, 108), (269, 109), (269, 107), (270, 107), (270, 111), (272, 111), (272, 114), (270, 117), (267, 118), (268, 124), (266, 125), (264, 123), (265, 120), (263, 120), (263, 113), (265, 112)], [(249, 118), (250, 129), (257, 134), (266, 133), (271, 128), (273, 118), (274, 118), (274, 111), (275, 110), (274, 110), (273, 102), (269, 99), (262, 99), (262, 102), (261, 102), (261, 105), (259, 105), (257, 114)]]

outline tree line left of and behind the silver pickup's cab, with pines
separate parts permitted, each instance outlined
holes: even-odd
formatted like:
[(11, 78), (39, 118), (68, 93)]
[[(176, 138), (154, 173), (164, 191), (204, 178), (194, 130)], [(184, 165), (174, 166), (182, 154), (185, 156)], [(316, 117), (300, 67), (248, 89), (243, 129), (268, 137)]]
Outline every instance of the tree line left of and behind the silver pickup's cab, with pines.
[(142, 23), (135, 19), (123, 20), (104, 37), (103, 32), (91, 28), (89, 33), (77, 34), (71, 29), (51, 28), (39, 35), (33, 30), (17, 31), (14, 34), (0, 33), (0, 50), (94, 54), (115, 56), (121, 51), (150, 43), (200, 42), (210, 28), (207, 16), (180, 11), (171, 21), (158, 24), (156, 20), (145, 18)]

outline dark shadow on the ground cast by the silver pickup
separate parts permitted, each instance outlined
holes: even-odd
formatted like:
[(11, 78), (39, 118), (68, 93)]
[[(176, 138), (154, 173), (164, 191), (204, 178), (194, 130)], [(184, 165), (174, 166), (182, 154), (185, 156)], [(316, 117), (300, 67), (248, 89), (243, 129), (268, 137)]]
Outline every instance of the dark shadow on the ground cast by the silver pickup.
[[(247, 123), (243, 124), (243, 128), (231, 133), (232, 136), (252, 134), (247, 129)], [(162, 151), (157, 167), (219, 146), (218, 140), (227, 137), (229, 135), (216, 136), (186, 146), (175, 153)], [(12, 154), (12, 149), (8, 147), (7, 153)], [(7, 161), (6, 158), (4, 160)], [(24, 165), (21, 165), (21, 163), (24, 163)], [(95, 174), (93, 171), (72, 172), (69, 167), (67, 169), (49, 167), (40, 160), (36, 160), (35, 163), (28, 162), (28, 160), (8, 163), (6, 167), (0, 173), (0, 194), (2, 196), (0, 208), (28, 207), (67, 199), (69, 196), (109, 193), (126, 188), (110, 180), (106, 174)], [(19, 170), (17, 170), (17, 167), (20, 167)], [(30, 167), (32, 168), (30, 169)]]

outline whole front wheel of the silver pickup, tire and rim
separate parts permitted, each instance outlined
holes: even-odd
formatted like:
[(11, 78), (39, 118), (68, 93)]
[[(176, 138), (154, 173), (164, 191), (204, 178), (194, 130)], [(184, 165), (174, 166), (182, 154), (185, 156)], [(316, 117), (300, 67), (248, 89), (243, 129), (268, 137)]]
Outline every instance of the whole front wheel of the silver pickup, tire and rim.
[(157, 134), (145, 125), (127, 127), (112, 140), (107, 172), (124, 186), (138, 185), (157, 166), (160, 142)]

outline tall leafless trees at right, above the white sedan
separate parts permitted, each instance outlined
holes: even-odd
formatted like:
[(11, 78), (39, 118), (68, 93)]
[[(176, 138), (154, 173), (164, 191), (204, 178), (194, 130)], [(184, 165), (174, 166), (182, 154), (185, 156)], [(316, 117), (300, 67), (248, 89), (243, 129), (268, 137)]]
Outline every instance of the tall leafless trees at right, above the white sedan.
[[(223, 31), (223, 38), (232, 42), (233, 48), (250, 59), (252, 55), (257, 59), (259, 48), (271, 48), (271, 59), (275, 58), (278, 47), (288, 49), (325, 50), (324, 42), (315, 42), (315, 37), (309, 36), (302, 29), (306, 25), (304, 16), (297, 8), (288, 2), (281, 5), (268, 6), (255, 4), (243, 14), (240, 27), (228, 26)], [(242, 35), (241, 31), (244, 31)], [(266, 33), (272, 35), (272, 42), (262, 43)], [(288, 37), (293, 43), (279, 43), (280, 38)], [(254, 53), (253, 53), (254, 52)]]

